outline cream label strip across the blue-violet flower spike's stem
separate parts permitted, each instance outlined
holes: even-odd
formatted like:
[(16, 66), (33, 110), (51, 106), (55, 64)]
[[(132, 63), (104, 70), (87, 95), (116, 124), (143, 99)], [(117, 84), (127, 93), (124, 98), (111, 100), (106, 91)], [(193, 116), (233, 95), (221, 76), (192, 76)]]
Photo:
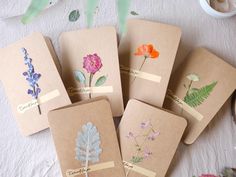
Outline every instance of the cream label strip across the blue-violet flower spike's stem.
[(47, 93), (46, 95), (41, 96), (37, 100), (31, 100), (27, 103), (20, 104), (17, 106), (17, 111), (21, 114), (23, 114), (25, 111), (32, 109), (40, 104), (46, 103), (60, 95), (60, 92), (58, 90), (54, 90), (52, 92)]

